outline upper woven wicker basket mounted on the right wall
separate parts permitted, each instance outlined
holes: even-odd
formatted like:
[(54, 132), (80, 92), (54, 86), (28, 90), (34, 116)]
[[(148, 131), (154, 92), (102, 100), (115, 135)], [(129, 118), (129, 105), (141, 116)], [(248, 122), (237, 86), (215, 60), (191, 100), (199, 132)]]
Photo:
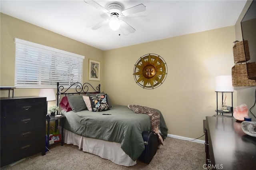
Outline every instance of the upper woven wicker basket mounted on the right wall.
[[(244, 52), (245, 49), (245, 52)], [(250, 60), (248, 41), (236, 42), (233, 46), (234, 63), (243, 63)]]

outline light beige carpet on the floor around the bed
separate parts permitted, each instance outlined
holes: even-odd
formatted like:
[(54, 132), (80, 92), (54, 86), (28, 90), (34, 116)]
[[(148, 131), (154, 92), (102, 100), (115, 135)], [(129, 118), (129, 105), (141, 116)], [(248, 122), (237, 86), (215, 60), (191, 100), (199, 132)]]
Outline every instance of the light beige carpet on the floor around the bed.
[(83, 152), (72, 144), (57, 144), (50, 150), (44, 156), (36, 154), (1, 170), (203, 170), (205, 164), (204, 144), (170, 137), (164, 140), (164, 146), (159, 146), (150, 164), (137, 161), (130, 167)]

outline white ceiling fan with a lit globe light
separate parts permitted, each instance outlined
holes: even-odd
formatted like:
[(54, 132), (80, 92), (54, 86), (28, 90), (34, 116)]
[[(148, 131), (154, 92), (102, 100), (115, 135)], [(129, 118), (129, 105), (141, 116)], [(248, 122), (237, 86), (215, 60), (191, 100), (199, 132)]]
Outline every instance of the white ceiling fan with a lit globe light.
[(127, 22), (125, 22), (124, 20), (121, 20), (119, 18), (131, 15), (131, 14), (136, 14), (138, 12), (143, 12), (146, 10), (146, 6), (144, 6), (143, 4), (133, 6), (126, 10), (122, 10), (122, 6), (117, 3), (109, 4), (108, 9), (106, 9), (103, 6), (101, 6), (100, 4), (98, 4), (97, 2), (95, 2), (94, 0), (84, 0), (84, 2), (94, 6), (95, 8), (101, 10), (102, 12), (104, 12), (108, 16), (110, 16), (109, 19), (106, 19), (106, 20), (100, 22), (99, 24), (96, 24), (95, 26), (93, 26), (92, 30), (97, 30), (104, 24), (109, 24), (110, 28), (113, 31), (117, 31), (120, 28), (120, 26), (122, 26), (128, 32), (134, 33), (136, 30), (134, 28), (132, 28), (132, 26), (130, 26)]

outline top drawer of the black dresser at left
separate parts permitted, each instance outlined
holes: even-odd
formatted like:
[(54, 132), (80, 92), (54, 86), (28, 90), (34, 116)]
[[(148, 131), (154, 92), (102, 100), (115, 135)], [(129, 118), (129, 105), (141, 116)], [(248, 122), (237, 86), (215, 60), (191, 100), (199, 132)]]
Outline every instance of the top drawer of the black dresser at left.
[(1, 118), (16, 117), (16, 116), (31, 116), (40, 115), (44, 113), (42, 108), (43, 102), (35, 103), (5, 103), (1, 105)]

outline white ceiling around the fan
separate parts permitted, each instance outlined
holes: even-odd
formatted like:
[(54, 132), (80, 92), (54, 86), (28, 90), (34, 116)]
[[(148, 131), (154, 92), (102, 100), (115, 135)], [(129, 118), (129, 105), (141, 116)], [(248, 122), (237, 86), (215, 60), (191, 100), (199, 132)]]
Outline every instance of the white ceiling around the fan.
[[(146, 11), (123, 17), (136, 31), (91, 27), (107, 14), (83, 0), (0, 0), (4, 14), (102, 50), (162, 40), (235, 25), (246, 0), (95, 0), (104, 8), (116, 2), (122, 9), (144, 4)], [(120, 36), (118, 35), (120, 34)]]

